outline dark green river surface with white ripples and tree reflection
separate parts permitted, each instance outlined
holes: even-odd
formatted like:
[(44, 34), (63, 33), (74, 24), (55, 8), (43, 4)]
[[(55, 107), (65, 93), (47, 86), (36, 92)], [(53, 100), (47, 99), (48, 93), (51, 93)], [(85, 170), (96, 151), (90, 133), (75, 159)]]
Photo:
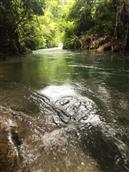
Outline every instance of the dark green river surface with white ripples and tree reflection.
[(128, 54), (53, 49), (1, 61), (0, 105), (23, 113), (30, 171), (129, 171)]

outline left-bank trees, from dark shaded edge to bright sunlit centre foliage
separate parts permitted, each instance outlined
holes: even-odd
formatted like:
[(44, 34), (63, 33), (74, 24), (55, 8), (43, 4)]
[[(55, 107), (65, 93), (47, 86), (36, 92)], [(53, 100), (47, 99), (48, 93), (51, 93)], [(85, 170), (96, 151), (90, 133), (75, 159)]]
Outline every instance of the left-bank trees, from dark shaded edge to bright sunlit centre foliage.
[[(0, 0), (0, 52), (23, 53), (57, 46), (65, 27), (61, 0)], [(63, 10), (62, 10), (63, 9)]]

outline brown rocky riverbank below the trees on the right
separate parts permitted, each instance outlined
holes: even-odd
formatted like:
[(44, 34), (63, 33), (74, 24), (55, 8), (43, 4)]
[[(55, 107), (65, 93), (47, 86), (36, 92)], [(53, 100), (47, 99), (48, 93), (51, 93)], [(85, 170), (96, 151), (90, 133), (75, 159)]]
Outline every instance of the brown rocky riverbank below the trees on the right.
[(97, 35), (92, 33), (85, 33), (79, 37), (76, 37), (76, 41), (69, 41), (64, 43), (64, 49), (80, 49), (80, 50), (95, 50), (96, 52), (119, 52), (128, 51), (122, 42), (115, 40), (110, 35)]

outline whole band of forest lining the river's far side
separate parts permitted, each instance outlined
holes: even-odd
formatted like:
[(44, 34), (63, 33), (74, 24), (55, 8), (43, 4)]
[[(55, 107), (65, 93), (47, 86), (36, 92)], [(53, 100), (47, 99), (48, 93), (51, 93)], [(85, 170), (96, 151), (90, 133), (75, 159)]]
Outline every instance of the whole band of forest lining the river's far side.
[(0, 53), (129, 50), (128, 0), (0, 0)]

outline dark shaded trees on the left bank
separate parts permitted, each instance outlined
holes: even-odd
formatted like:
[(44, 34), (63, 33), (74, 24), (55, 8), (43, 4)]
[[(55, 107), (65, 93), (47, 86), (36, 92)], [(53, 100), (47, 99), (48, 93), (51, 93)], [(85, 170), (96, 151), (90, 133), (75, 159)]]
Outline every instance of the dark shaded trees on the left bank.
[(37, 39), (35, 20), (42, 14), (43, 1), (0, 0), (0, 52), (21, 53), (30, 48), (27, 39), (32, 35)]

